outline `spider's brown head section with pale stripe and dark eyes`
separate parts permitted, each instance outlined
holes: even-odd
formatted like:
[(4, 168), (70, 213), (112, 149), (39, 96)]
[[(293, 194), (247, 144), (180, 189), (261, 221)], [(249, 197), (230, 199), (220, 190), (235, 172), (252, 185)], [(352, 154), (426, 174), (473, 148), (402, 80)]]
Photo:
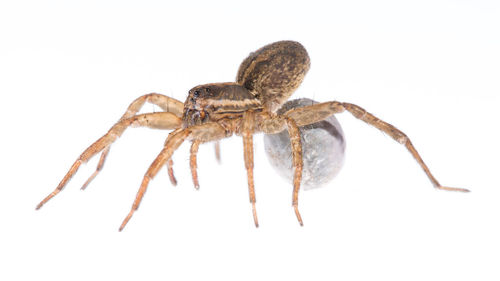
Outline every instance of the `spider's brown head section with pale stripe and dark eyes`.
[(260, 101), (236, 83), (199, 85), (189, 90), (184, 103), (184, 127), (200, 125), (260, 107)]

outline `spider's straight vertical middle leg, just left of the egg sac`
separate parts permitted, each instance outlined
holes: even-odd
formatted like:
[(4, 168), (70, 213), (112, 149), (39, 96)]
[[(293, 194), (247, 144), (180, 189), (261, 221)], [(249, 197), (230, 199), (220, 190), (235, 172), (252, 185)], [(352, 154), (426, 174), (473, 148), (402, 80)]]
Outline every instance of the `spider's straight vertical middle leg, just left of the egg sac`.
[(255, 227), (259, 227), (259, 220), (257, 219), (257, 211), (255, 209), (255, 186), (253, 181), (253, 131), (255, 115), (252, 111), (248, 111), (243, 115), (243, 156), (245, 159), (245, 168), (247, 170), (248, 179), (248, 193), (250, 196), (250, 203), (252, 204), (252, 214)]

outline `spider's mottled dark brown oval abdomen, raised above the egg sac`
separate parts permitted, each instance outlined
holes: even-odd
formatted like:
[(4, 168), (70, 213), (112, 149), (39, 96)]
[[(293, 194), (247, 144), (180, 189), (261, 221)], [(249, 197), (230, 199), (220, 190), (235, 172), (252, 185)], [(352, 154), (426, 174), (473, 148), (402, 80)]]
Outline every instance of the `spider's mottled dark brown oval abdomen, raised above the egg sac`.
[(310, 64), (300, 43), (279, 41), (251, 53), (241, 63), (236, 81), (275, 112), (300, 86)]

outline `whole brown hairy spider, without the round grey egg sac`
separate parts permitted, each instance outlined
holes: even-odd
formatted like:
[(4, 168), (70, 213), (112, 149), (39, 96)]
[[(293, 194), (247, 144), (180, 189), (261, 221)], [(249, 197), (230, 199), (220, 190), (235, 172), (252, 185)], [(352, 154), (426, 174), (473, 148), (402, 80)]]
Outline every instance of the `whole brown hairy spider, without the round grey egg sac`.
[[(250, 203), (254, 223), (258, 227), (253, 181), (253, 135), (256, 133), (276, 134), (287, 130), (291, 141), (294, 173), (292, 206), (297, 220), (302, 226), (303, 221), (298, 209), (303, 165), (299, 127), (319, 122), (332, 114), (344, 111), (348, 111), (354, 117), (374, 126), (404, 145), (435, 188), (449, 191), (469, 191), (463, 188), (442, 186), (431, 174), (410, 139), (403, 132), (355, 104), (329, 101), (294, 108), (278, 114), (277, 111), (281, 105), (302, 83), (309, 67), (309, 55), (300, 43), (279, 41), (250, 53), (238, 69), (236, 82), (196, 86), (189, 90), (184, 103), (156, 93), (137, 98), (130, 104), (120, 120), (78, 157), (56, 189), (45, 197), (36, 209), (40, 209), (47, 201), (57, 195), (82, 163), (101, 152), (95, 172), (82, 186), (82, 189), (85, 189), (102, 169), (111, 145), (123, 134), (125, 129), (129, 126), (144, 126), (173, 131), (168, 135), (163, 149), (144, 175), (132, 208), (123, 220), (119, 231), (123, 230), (134, 212), (137, 211), (149, 182), (163, 165), (167, 166), (172, 183), (176, 183), (171, 157), (184, 141), (190, 140), (192, 142), (190, 167), (194, 186), (198, 188), (196, 157), (200, 144), (215, 141), (216, 148), (218, 148), (218, 140), (233, 134), (241, 136), (243, 139)], [(159, 106), (163, 112), (137, 114), (145, 102)]]

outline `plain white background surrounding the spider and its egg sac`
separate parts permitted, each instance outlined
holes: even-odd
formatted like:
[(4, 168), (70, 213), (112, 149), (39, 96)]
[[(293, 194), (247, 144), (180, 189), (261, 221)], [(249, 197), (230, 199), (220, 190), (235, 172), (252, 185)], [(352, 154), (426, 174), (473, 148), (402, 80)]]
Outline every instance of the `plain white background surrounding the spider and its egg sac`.
[[(326, 2), (326, 1), (325, 1)], [(0, 2), (1, 280), (499, 280), (498, 1)], [(130, 129), (40, 211), (77, 156), (136, 97), (184, 101), (233, 81), (270, 42), (300, 41), (312, 68), (294, 97), (359, 104), (410, 136), (444, 185), (404, 147), (344, 113), (346, 163), (299, 196), (255, 136), (260, 227), (242, 141), (174, 155), (119, 233), (167, 132)], [(144, 111), (158, 110), (146, 105)]]

